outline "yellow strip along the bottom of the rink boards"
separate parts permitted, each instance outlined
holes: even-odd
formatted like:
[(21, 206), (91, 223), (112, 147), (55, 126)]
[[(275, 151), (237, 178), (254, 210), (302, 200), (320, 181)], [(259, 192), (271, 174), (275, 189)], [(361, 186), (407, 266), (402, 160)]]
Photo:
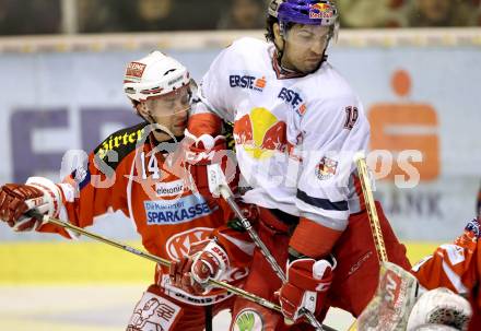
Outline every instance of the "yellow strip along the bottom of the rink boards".
[[(128, 243), (140, 247), (140, 243)], [(437, 244), (408, 243), (411, 262)], [(144, 283), (153, 281), (154, 263), (97, 243), (0, 244), (0, 284)]]

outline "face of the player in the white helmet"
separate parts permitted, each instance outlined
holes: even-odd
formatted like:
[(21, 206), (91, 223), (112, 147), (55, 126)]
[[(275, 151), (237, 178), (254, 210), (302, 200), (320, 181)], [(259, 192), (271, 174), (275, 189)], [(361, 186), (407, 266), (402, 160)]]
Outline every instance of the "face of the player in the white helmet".
[[(156, 123), (171, 131), (168, 133), (181, 135), (190, 110), (190, 88), (185, 86), (160, 97), (150, 98), (145, 102), (145, 107)], [(161, 140), (157, 135), (162, 133), (154, 132), (154, 134)]]

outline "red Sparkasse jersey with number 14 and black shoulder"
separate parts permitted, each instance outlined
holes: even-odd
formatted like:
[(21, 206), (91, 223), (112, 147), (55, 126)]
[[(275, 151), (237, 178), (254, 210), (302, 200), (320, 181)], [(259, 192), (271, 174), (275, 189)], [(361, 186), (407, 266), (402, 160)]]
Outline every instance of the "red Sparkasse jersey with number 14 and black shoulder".
[[(109, 211), (121, 211), (132, 222), (142, 238), (143, 247), (152, 255), (179, 260), (192, 243), (212, 236), (233, 258), (234, 267), (225, 281), (237, 283), (246, 274), (244, 263), (254, 247), (243, 241), (239, 234), (226, 226), (232, 211), (222, 200), (211, 203), (196, 189), (196, 178), (176, 156), (177, 143), (153, 143), (146, 123), (113, 133), (93, 153), (89, 164), (78, 168), (59, 184), (64, 197), (60, 216), (86, 227), (95, 217)], [(46, 224), (42, 232), (58, 232), (66, 237), (73, 234)], [(233, 244), (235, 243), (235, 244)], [(156, 268), (155, 282), (166, 294), (192, 305), (208, 305), (227, 297), (214, 291), (206, 296), (192, 296), (169, 285), (168, 269)]]

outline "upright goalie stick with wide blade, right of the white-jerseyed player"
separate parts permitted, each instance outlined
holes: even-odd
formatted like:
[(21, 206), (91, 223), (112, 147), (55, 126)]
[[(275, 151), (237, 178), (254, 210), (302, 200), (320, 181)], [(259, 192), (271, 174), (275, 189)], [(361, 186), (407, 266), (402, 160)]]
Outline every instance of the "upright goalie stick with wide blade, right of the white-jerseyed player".
[(364, 154), (355, 155), (355, 163), (380, 272), (375, 296), (349, 330), (404, 331), (409, 312), (415, 303), (418, 280), (408, 271), (388, 261)]

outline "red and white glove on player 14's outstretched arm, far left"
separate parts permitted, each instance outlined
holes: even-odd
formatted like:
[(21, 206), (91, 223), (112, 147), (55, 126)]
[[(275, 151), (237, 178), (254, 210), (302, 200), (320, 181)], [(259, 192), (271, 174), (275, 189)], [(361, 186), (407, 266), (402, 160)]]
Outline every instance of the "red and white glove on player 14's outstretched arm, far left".
[(37, 209), (57, 217), (61, 201), (59, 187), (44, 177), (31, 177), (25, 185), (7, 184), (0, 188), (0, 220), (16, 232), (38, 229), (45, 222), (24, 214)]

